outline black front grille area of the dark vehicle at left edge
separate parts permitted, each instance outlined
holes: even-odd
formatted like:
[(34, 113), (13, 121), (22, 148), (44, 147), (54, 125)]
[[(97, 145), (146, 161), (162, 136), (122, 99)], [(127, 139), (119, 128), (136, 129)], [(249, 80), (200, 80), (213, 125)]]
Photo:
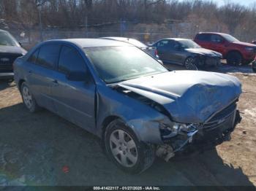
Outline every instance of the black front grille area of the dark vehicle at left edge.
[(16, 58), (22, 56), (21, 54), (10, 54), (10, 53), (0, 53), (0, 71), (10, 72), (12, 71), (12, 63)]

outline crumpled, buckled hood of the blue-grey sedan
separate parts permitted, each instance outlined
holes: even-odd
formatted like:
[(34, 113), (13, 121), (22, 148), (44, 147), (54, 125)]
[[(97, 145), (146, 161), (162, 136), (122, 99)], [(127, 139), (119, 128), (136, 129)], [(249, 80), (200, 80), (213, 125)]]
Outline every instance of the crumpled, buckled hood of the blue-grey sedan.
[(162, 104), (176, 122), (203, 123), (241, 94), (236, 77), (206, 71), (170, 71), (118, 84)]

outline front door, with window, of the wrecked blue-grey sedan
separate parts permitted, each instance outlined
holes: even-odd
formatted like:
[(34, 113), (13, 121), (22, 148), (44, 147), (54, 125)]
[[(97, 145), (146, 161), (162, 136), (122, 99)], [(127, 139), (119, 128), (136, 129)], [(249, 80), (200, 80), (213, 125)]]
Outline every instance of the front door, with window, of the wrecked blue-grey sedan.
[[(67, 79), (73, 71), (82, 71), (88, 76), (88, 82)], [(86, 130), (94, 128), (95, 84), (83, 56), (75, 47), (61, 47), (58, 71), (54, 72), (51, 88), (57, 114)]]

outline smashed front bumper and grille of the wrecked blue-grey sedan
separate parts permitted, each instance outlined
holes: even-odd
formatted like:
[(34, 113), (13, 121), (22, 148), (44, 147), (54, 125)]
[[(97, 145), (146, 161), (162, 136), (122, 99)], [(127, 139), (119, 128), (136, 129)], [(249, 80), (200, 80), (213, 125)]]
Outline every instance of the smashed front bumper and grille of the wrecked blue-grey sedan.
[(197, 130), (178, 134), (175, 138), (165, 141), (165, 144), (157, 148), (157, 156), (168, 161), (176, 154), (212, 149), (224, 141), (230, 141), (230, 134), (239, 122), (241, 122), (241, 116), (236, 109), (221, 120), (213, 117), (206, 124), (198, 126)]

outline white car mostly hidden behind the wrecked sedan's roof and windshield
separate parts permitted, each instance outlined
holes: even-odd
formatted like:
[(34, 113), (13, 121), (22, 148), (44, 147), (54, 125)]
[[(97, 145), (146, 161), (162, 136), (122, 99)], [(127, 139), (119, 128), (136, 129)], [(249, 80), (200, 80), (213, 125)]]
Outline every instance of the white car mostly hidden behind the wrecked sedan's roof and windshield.
[(130, 38), (125, 38), (125, 37), (115, 37), (115, 36), (102, 37), (101, 39), (111, 39), (111, 40), (117, 40), (117, 41), (121, 41), (121, 42), (127, 42), (129, 44), (134, 45), (135, 47), (139, 47), (141, 50), (147, 52), (149, 55), (153, 56), (157, 60), (159, 59), (159, 56), (157, 55), (156, 47), (148, 47), (146, 44), (143, 44), (142, 42), (138, 41), (137, 39), (130, 39)]

